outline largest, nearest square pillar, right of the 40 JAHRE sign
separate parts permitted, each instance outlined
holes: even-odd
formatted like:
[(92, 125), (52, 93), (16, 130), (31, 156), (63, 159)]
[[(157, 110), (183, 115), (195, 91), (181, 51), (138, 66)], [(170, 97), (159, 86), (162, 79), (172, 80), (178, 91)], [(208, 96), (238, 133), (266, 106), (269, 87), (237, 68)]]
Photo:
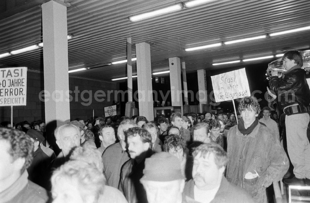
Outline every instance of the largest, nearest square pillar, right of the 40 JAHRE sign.
[[(70, 121), (67, 7), (55, 1), (42, 4), (45, 122)], [(66, 94), (67, 93), (67, 94)]]

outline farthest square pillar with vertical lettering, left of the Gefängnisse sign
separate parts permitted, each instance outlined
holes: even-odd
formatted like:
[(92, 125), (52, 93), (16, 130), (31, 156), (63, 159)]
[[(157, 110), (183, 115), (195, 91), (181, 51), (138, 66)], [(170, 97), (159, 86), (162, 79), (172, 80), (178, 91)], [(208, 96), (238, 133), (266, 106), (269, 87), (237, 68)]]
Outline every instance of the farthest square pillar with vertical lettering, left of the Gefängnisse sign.
[(207, 81), (206, 81), (206, 70), (197, 70), (198, 76), (198, 93), (199, 93), (199, 106), (200, 112), (203, 112), (203, 104), (208, 104), (207, 96)]

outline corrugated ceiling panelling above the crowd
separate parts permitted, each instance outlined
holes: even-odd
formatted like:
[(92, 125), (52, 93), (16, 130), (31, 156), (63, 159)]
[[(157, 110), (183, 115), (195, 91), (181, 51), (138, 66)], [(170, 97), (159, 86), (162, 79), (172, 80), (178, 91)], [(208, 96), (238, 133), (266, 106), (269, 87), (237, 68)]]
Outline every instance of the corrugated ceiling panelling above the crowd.
[[(0, 54), (42, 42), (40, 1), (32, 8), (6, 17), (0, 14)], [(166, 15), (132, 23), (128, 16), (171, 6), (180, 1), (169, 0), (68, 0), (69, 67), (83, 65), (93, 69), (71, 73), (110, 81), (126, 76), (126, 64), (107, 65), (113, 58), (126, 59), (126, 38), (135, 43), (151, 44), (152, 70), (169, 67), (168, 58), (185, 61), (187, 72), (246, 65), (212, 66), (224, 58), (243, 58), (261, 53), (276, 54), (286, 49), (308, 49), (310, 31), (248, 41), (216, 48), (185, 52), (193, 46), (255, 37), (267, 33), (310, 25), (309, 0), (218, 0), (184, 8)], [(42, 1), (41, 1), (42, 3)], [(19, 9), (21, 6), (19, 6)], [(11, 12), (11, 14), (14, 14)], [(281, 53), (282, 53), (281, 52)], [(43, 71), (43, 49), (0, 59), (4, 66), (27, 66)], [(272, 61), (274, 59), (266, 59)], [(262, 67), (267, 68), (267, 67)], [(135, 62), (133, 62), (135, 72)]]

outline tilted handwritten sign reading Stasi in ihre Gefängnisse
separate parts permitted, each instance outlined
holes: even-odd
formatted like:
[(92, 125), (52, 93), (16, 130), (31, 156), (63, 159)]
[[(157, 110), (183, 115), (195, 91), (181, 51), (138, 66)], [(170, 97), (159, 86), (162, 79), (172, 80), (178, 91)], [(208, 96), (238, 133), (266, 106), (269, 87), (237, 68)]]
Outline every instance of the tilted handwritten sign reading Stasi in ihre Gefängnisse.
[(211, 76), (216, 102), (251, 96), (245, 68)]

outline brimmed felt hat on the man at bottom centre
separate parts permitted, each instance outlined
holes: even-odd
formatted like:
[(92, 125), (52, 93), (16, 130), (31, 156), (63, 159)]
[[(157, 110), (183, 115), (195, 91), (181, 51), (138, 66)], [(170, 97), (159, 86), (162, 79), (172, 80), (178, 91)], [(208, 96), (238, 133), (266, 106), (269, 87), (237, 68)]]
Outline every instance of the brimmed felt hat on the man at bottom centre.
[(153, 154), (145, 159), (144, 165), (141, 180), (166, 182), (184, 179), (179, 159), (168, 152)]

